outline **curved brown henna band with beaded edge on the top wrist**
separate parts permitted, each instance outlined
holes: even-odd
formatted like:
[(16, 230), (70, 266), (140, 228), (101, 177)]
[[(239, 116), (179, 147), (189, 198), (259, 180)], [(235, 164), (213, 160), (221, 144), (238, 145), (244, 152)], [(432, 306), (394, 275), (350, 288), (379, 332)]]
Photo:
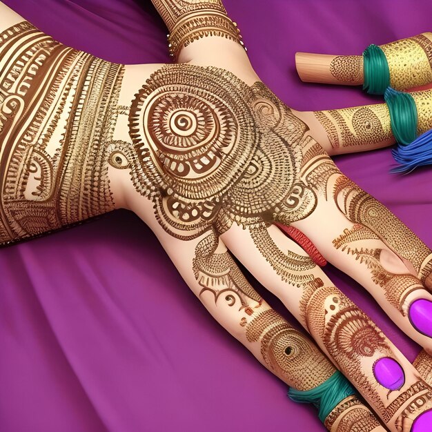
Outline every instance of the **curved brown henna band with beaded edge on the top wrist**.
[[(218, 10), (202, 9), (179, 19), (168, 35), (170, 56), (177, 59), (181, 48), (206, 36), (220, 36), (238, 42), (244, 47), (237, 23)], [(244, 47), (246, 50), (246, 47)]]

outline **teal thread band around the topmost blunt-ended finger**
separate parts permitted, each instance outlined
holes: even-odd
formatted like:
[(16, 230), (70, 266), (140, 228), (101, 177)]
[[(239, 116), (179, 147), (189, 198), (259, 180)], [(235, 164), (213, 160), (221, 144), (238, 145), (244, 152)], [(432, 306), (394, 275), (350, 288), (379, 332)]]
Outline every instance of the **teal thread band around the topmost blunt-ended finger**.
[(384, 51), (369, 45), (363, 52), (363, 90), (369, 95), (382, 95), (390, 86), (390, 70)]

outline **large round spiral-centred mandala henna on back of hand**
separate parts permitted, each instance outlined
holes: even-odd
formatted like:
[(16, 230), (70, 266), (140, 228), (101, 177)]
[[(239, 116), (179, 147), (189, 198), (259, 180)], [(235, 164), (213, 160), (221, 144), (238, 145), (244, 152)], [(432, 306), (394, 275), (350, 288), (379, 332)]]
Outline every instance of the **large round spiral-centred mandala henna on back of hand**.
[(216, 68), (170, 65), (139, 90), (130, 136), (144, 173), (179, 199), (221, 197), (253, 157), (250, 88)]

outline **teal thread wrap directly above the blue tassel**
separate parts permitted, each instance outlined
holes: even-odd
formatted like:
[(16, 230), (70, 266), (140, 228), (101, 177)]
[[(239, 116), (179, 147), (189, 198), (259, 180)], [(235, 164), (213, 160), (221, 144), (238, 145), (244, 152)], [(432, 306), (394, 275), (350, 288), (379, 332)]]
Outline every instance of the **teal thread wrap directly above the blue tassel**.
[(414, 98), (388, 87), (384, 99), (389, 107), (391, 131), (397, 143), (407, 146), (417, 137), (418, 112)]

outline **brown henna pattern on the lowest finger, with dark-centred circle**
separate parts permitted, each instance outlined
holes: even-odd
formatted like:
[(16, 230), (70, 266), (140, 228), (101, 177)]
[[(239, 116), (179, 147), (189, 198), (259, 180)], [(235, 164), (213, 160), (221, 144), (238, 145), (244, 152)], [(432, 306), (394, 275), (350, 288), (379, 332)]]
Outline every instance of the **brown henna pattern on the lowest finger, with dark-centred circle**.
[[(259, 296), (228, 251), (217, 252), (218, 243), (215, 233), (209, 233), (195, 247), (193, 271), (202, 286), (199, 297), (210, 291), (217, 305), (221, 302), (230, 307), (241, 305), (235, 311), (246, 314), (240, 325), (247, 342), (259, 344), (259, 360), (286, 384), (307, 391), (328, 380), (335, 373), (335, 366), (306, 335), (293, 328)], [(222, 322), (225, 316), (223, 313), (215, 317)], [(337, 404), (326, 418), (328, 430), (336, 432), (357, 431), (355, 425), (361, 425), (362, 431), (371, 431), (375, 424), (377, 420), (371, 411), (355, 396)]]

